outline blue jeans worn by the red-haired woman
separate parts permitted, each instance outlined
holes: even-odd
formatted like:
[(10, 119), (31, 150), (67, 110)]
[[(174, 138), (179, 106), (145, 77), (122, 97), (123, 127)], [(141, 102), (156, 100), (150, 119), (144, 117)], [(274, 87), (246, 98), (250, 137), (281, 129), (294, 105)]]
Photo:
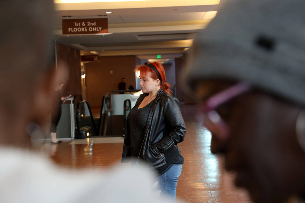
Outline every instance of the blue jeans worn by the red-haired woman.
[(167, 172), (156, 178), (161, 196), (171, 202), (176, 200), (177, 181), (181, 175), (182, 164), (174, 164)]

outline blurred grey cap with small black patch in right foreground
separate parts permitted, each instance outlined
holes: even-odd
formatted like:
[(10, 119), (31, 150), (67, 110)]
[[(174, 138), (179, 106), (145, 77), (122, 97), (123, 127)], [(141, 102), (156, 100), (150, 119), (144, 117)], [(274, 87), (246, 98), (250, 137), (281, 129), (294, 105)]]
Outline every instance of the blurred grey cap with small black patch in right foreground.
[(184, 81), (246, 80), (305, 104), (305, 1), (230, 0), (196, 37)]

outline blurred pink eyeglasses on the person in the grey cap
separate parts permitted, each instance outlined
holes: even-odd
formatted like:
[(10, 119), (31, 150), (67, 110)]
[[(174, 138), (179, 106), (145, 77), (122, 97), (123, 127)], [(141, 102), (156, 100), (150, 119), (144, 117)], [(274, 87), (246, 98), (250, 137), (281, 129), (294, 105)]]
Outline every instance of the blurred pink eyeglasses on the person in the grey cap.
[(251, 89), (247, 82), (240, 82), (220, 93), (217, 93), (206, 100), (202, 106), (203, 125), (220, 141), (225, 141), (229, 136), (229, 126), (226, 124), (217, 113), (216, 108), (236, 96), (246, 93)]

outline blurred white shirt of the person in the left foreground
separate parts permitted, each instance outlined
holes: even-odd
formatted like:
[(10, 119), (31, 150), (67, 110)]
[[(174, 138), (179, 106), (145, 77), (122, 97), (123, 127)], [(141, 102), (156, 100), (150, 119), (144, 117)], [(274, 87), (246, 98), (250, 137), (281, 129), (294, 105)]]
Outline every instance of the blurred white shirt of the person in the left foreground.
[(0, 202), (165, 202), (154, 196), (153, 174), (143, 166), (67, 170), (47, 157), (0, 148)]

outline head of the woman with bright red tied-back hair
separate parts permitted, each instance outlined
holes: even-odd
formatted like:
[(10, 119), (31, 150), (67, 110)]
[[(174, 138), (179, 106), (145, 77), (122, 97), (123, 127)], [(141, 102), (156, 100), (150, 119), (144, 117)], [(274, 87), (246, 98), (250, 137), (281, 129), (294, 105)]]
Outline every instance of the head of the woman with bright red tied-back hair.
[[(149, 65), (152, 65), (159, 73), (153, 70)], [(135, 68), (135, 72), (140, 72), (140, 86), (143, 93), (151, 92), (153, 89), (162, 88), (166, 93), (170, 94), (170, 85), (165, 82), (165, 70), (163, 65), (158, 62), (148, 63), (148, 65), (140, 65)]]

